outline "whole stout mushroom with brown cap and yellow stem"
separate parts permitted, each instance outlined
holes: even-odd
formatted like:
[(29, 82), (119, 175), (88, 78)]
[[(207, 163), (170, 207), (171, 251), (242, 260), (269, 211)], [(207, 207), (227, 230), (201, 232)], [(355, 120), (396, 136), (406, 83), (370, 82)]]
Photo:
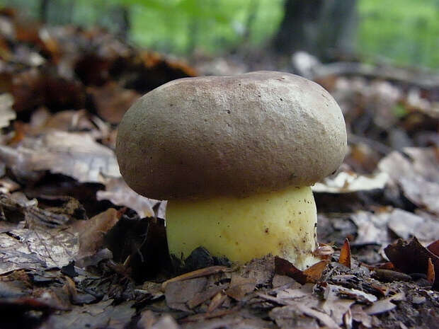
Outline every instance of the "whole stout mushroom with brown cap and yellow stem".
[(168, 200), (171, 254), (204, 246), (242, 264), (271, 253), (300, 269), (319, 260), (310, 186), (345, 153), (331, 95), (275, 71), (166, 83), (125, 113), (116, 142), (126, 183)]

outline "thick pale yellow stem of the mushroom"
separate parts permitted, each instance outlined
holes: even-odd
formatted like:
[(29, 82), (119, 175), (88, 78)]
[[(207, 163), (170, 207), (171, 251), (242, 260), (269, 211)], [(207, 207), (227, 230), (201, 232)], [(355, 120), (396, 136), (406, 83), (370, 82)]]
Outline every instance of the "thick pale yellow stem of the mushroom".
[(166, 207), (169, 251), (178, 258), (203, 246), (239, 264), (271, 253), (304, 270), (319, 261), (316, 229), (311, 187), (244, 198), (171, 200)]

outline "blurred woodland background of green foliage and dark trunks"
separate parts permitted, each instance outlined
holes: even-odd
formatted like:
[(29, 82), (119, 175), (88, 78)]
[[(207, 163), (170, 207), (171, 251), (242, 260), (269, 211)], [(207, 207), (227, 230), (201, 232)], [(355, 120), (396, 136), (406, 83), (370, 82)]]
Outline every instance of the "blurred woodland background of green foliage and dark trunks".
[(340, 59), (439, 67), (439, 0), (1, 0), (48, 25), (102, 26), (180, 56)]

